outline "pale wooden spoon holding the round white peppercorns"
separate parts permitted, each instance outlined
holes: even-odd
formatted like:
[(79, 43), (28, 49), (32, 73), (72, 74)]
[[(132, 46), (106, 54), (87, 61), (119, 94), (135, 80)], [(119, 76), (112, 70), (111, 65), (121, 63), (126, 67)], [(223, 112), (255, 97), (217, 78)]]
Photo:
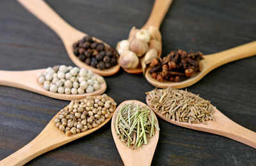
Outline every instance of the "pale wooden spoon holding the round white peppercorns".
[[(57, 98), (60, 100), (76, 100), (84, 98), (85, 96), (95, 96), (104, 93), (107, 88), (106, 82), (100, 84), (100, 89), (93, 91), (93, 93), (84, 94), (61, 94), (52, 93), (44, 89), (44, 86), (38, 82), (38, 73), (44, 73), (46, 69), (39, 70), (26, 70), (26, 71), (4, 71), (0, 70), (0, 85), (18, 87), (20, 89), (26, 89), (35, 93), (43, 94), (51, 98)], [(95, 74), (96, 75), (96, 74)], [(99, 75), (97, 75), (100, 77)]]

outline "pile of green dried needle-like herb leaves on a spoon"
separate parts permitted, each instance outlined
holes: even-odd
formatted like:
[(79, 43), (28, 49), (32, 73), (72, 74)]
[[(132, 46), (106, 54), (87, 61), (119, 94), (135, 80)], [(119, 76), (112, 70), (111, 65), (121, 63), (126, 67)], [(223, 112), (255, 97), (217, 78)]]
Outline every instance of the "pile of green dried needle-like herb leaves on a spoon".
[(126, 142), (127, 147), (137, 149), (142, 144), (147, 145), (148, 138), (154, 135), (155, 127), (160, 130), (150, 111), (134, 103), (126, 104), (118, 111), (116, 133), (122, 142)]

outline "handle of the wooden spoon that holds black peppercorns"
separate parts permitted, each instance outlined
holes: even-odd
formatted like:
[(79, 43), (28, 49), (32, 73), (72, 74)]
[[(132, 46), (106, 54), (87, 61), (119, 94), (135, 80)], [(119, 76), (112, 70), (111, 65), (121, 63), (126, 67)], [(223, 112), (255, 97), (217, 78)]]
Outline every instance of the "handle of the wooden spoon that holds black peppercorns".
[(65, 20), (61, 19), (52, 8), (43, 0), (18, 0), (27, 10), (33, 13), (38, 19), (42, 20), (47, 26), (51, 27), (62, 39), (68, 37), (70, 33), (77, 31)]

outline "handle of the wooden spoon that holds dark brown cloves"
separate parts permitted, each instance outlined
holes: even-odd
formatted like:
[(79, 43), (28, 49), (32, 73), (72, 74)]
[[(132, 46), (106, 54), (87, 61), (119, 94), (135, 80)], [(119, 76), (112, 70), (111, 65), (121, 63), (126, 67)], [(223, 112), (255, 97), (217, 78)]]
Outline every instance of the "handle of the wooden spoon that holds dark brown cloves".
[(252, 41), (250, 43), (234, 47), (233, 49), (205, 56), (205, 60), (207, 60), (205, 63), (209, 63), (209, 65), (205, 64), (205, 66), (211, 66), (211, 68), (214, 69), (223, 64), (255, 55), (256, 41)]

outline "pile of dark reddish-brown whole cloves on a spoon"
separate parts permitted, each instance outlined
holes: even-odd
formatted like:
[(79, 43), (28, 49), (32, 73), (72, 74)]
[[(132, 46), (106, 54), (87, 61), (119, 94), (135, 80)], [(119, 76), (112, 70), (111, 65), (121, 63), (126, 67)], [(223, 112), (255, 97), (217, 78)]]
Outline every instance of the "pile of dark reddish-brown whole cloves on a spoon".
[(200, 72), (200, 61), (204, 59), (201, 52), (172, 51), (168, 56), (152, 59), (150, 70), (152, 77), (159, 82), (164, 80), (180, 82), (194, 73)]

